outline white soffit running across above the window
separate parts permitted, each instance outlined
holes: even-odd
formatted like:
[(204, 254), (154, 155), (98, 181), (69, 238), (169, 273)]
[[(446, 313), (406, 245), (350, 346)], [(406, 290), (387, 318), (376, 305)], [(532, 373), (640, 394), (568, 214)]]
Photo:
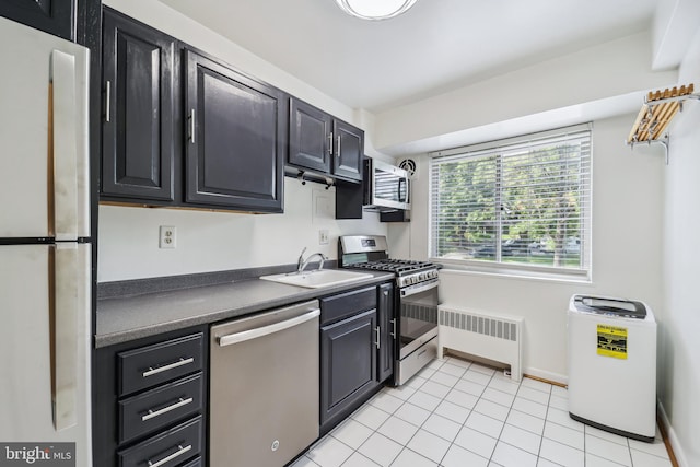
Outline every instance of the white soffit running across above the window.
[[(581, 118), (599, 118), (600, 112), (590, 109), (590, 103), (606, 107), (608, 101), (617, 104), (620, 96), (640, 92), (627, 110), (632, 112), (639, 108), (643, 93), (676, 82), (675, 70), (651, 70), (651, 34), (634, 34), (386, 110), (376, 116), (376, 148), (394, 153), (396, 148), (419, 140), (438, 145), (448, 140), (447, 144), (453, 144), (455, 135), (471, 139), (462, 144), (485, 141), (474, 138), (480, 136), (469, 131), (475, 128), (479, 132), (501, 132), (498, 138), (505, 138), (518, 135), (508, 135), (509, 125), (504, 124), (513, 120), (524, 119), (518, 121), (524, 132), (572, 125)], [(546, 121), (555, 109), (565, 112), (555, 113), (558, 124)], [(621, 113), (619, 108), (612, 110), (617, 113), (603, 109), (606, 117)], [(582, 117), (582, 113), (593, 117)], [(445, 147), (425, 151), (440, 149)]]

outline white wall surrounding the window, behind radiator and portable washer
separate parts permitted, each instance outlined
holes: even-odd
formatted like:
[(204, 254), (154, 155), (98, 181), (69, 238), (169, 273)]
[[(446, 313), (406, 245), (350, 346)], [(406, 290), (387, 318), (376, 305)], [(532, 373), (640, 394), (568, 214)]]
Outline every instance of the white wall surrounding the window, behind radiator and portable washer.
[[(664, 157), (661, 148), (632, 153), (623, 144), (634, 117), (594, 122), (592, 283), (441, 271), (443, 303), (525, 318), (525, 373), (567, 381), (565, 311), (573, 293), (634, 297), (652, 308), (662, 304)], [(413, 200), (423, 201), (415, 205), (410, 225), (389, 227), (389, 238), (395, 254), (419, 259), (428, 255), (427, 156), (413, 189)]]

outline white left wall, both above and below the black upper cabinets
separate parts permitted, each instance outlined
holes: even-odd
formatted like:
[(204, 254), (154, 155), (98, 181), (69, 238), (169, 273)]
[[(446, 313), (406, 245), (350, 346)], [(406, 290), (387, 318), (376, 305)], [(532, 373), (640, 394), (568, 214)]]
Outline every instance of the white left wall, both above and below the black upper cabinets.
[[(256, 57), (229, 39), (158, 1), (105, 0), (104, 3), (198, 47), (237, 69), (280, 87), (365, 130), (365, 153), (372, 147), (374, 118), (320, 93), (295, 77)], [(97, 280), (100, 282), (240, 269), (295, 262), (301, 249), (337, 257), (341, 234), (385, 234), (378, 215), (336, 221), (335, 189), (318, 184), (284, 183), (284, 214), (236, 214), (173, 209), (100, 207)], [(314, 196), (316, 194), (316, 196)], [(177, 229), (177, 248), (159, 249), (159, 225)], [(328, 245), (318, 230), (328, 230)]]

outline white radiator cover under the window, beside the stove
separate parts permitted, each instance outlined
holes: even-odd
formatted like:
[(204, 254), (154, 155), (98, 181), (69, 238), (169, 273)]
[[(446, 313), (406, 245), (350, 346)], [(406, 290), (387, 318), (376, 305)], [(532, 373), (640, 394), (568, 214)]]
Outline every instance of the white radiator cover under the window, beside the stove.
[(521, 381), (523, 318), (440, 305), (438, 358), (456, 350), (511, 366), (511, 378)]

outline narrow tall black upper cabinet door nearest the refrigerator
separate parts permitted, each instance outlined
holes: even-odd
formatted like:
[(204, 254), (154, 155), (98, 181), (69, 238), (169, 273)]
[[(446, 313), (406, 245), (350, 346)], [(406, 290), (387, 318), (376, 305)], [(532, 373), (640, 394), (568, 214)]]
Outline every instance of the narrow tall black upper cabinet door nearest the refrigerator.
[(175, 39), (105, 10), (102, 194), (173, 200)]

